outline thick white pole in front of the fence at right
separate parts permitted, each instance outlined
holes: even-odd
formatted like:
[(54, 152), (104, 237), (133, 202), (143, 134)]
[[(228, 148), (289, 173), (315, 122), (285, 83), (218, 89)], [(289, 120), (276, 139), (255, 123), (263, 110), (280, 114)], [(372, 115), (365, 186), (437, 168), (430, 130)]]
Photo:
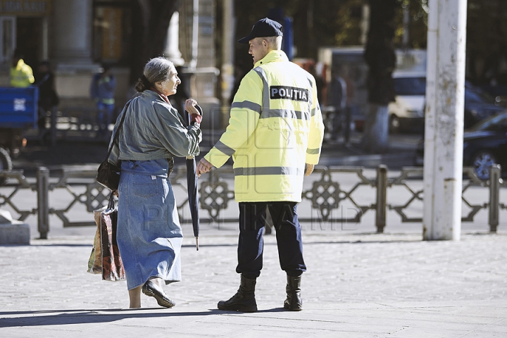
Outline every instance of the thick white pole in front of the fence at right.
[(461, 236), (466, 0), (430, 0), (423, 239)]

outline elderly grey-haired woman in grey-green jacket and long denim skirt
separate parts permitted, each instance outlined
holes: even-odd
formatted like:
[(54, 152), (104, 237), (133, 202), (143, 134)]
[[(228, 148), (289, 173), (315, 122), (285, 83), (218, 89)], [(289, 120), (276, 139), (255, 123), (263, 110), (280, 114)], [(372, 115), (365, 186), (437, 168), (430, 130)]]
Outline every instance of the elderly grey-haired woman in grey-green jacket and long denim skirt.
[[(136, 86), (139, 93), (122, 112), (117, 239), (130, 308), (141, 307), (141, 291), (160, 306), (175, 306), (163, 286), (181, 280), (182, 230), (168, 175), (174, 156), (199, 154), (201, 115), (196, 101), (188, 99), (185, 110), (192, 122), (186, 127), (169, 103), (168, 96), (180, 83), (173, 63), (153, 58), (144, 66)], [(113, 134), (120, 120), (121, 116)]]

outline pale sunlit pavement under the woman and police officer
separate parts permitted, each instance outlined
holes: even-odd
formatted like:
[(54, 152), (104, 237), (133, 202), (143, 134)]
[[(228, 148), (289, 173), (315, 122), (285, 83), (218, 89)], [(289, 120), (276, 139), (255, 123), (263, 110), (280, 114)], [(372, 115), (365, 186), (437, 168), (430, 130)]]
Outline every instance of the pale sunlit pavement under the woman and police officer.
[(258, 313), (216, 310), (237, 291), (234, 231), (184, 239), (172, 309), (86, 273), (87, 236), (0, 246), (0, 337), (507, 337), (507, 234), (303, 234), (303, 311), (282, 310), (285, 276), (265, 237)]

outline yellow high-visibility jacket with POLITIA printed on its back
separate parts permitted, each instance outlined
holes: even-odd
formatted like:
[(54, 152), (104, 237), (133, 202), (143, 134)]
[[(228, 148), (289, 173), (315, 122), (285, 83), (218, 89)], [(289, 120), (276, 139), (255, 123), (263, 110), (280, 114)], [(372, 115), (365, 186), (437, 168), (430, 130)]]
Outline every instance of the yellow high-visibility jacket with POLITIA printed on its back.
[(318, 163), (323, 135), (315, 79), (270, 51), (243, 78), (227, 130), (204, 157), (220, 168), (232, 156), (238, 202), (299, 202), (305, 163)]

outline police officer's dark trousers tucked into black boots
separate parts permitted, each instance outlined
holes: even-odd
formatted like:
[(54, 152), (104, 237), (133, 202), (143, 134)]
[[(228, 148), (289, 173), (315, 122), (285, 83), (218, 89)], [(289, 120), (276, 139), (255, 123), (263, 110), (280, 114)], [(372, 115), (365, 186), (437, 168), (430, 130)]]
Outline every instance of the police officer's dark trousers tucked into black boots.
[(301, 226), (296, 213), (296, 202), (241, 202), (239, 203), (239, 243), (237, 273), (246, 278), (261, 275), (263, 267), (263, 230), (266, 208), (269, 208), (276, 230), (280, 268), (289, 276), (306, 271), (303, 261)]

